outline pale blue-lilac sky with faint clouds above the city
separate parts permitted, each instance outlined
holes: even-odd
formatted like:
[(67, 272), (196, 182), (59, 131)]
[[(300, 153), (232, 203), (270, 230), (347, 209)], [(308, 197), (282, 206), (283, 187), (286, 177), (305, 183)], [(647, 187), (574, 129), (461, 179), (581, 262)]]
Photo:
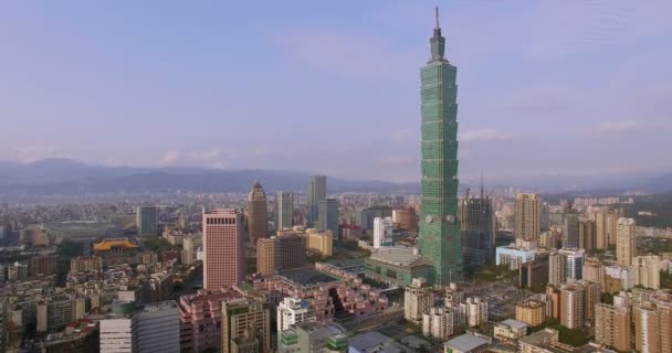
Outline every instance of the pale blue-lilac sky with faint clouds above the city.
[(433, 7), (460, 178), (672, 171), (671, 1), (4, 1), (0, 160), (420, 178)]

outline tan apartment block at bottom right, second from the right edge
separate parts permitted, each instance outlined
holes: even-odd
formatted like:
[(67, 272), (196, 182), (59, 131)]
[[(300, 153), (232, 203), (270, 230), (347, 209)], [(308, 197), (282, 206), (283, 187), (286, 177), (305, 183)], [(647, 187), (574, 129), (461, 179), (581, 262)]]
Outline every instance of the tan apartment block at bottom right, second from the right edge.
[(632, 350), (631, 313), (626, 306), (598, 303), (595, 308), (595, 342), (619, 352)]

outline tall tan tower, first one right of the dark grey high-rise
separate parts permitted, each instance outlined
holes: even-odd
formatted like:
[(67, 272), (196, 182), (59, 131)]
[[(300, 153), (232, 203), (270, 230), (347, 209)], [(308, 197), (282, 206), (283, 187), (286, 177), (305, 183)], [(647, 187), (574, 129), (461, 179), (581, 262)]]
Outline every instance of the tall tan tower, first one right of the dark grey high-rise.
[(516, 238), (538, 240), (542, 233), (542, 197), (537, 194), (517, 194), (514, 211)]

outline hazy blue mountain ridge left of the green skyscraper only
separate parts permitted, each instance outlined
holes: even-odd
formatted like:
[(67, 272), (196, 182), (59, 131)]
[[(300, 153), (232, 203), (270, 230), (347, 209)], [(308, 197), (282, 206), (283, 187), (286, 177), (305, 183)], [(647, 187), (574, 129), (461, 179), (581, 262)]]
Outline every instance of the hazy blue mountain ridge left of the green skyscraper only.
[[(304, 191), (309, 173), (204, 168), (128, 168), (90, 165), (69, 159), (34, 163), (0, 162), (0, 195), (81, 193), (248, 192), (260, 180), (267, 192)], [(393, 192), (419, 190), (419, 184), (351, 181), (329, 178), (329, 192)]]

